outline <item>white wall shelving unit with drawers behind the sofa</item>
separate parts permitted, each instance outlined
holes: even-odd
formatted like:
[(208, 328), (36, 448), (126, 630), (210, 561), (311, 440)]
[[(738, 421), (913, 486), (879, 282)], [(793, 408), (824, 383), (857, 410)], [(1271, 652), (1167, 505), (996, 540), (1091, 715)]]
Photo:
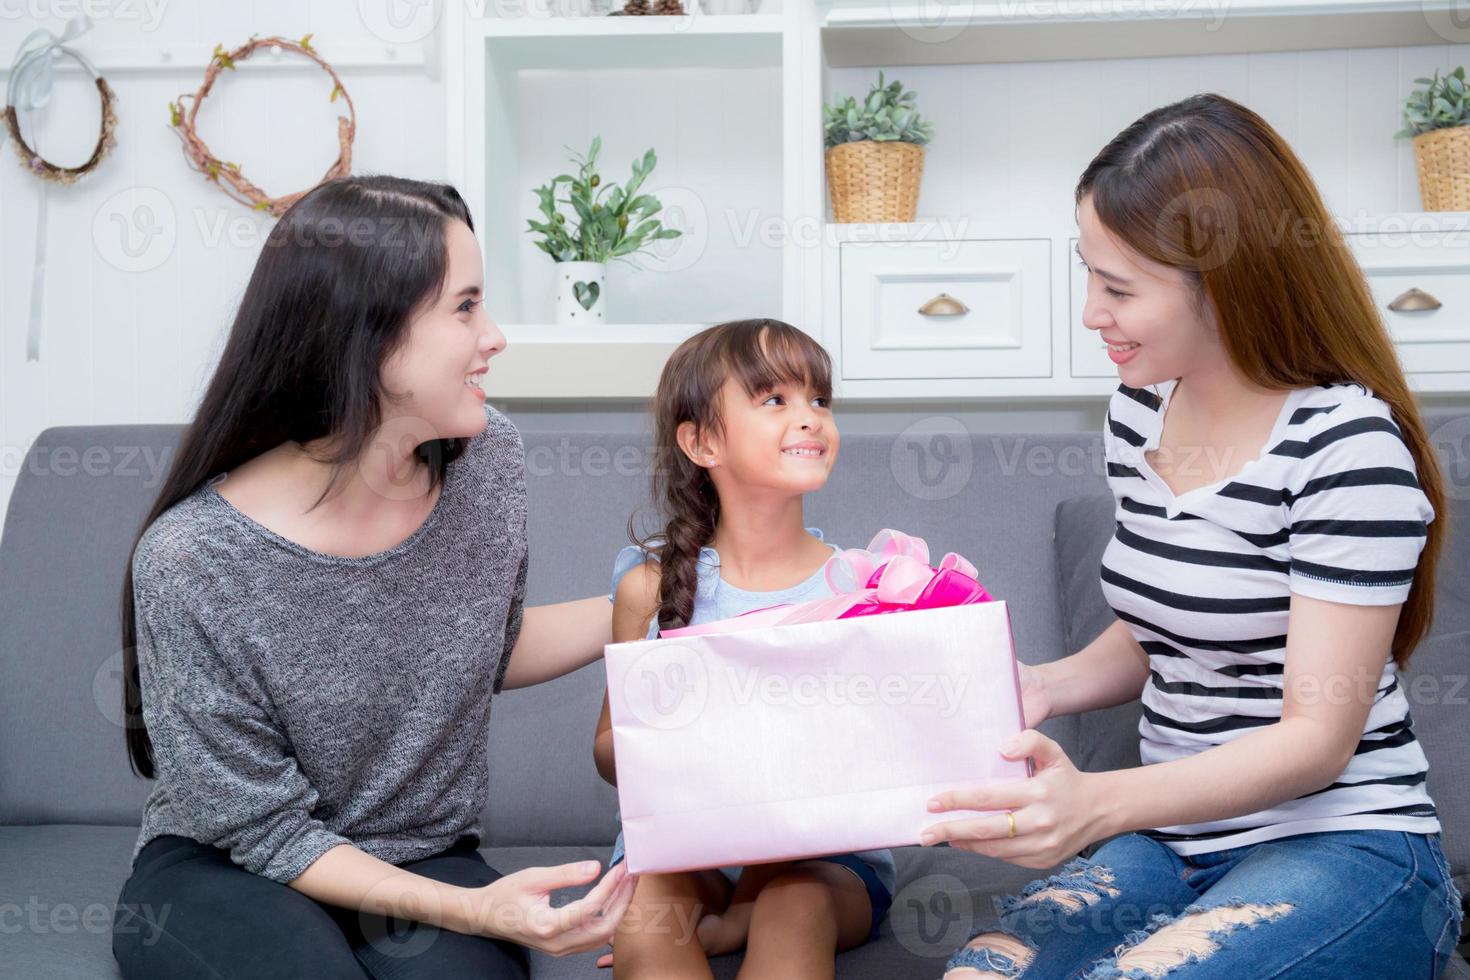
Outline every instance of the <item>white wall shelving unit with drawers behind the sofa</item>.
[[(1194, 91), (1247, 101), (1299, 148), (1357, 232), (1349, 241), (1374, 289), (1423, 276), (1445, 292), (1427, 317), (1385, 316), (1417, 389), (1470, 389), (1460, 287), (1463, 273), (1470, 279), (1470, 213), (1413, 210), (1407, 145), (1385, 143), (1407, 79), (1470, 62), (1455, 0), (1004, 0), (947, 3), (938, 16), (897, 0), (770, 7), (778, 1), (747, 16), (566, 19), (472, 18), (445, 4), (450, 179), (476, 216), (487, 301), (510, 339), (492, 397), (647, 397), (679, 341), (739, 316), (778, 316), (817, 336), (844, 398), (1104, 395), (1116, 373), (1078, 322), (1070, 181), (1123, 125)], [(929, 197), (911, 225), (836, 225), (822, 103), (861, 96), (878, 68), (916, 88), (920, 110), (939, 120)], [(1029, 104), (1026, 93), (1047, 98), (1050, 85), (1079, 93), (1075, 122)], [(1338, 101), (1314, 94), (1320, 85), (1341, 87), (1341, 120), (1319, 119)], [(664, 200), (666, 223), (684, 219), (689, 234), (676, 241), (694, 251), (642, 270), (614, 263), (610, 323), (557, 328), (553, 263), (522, 229), (531, 188), (567, 170), (562, 145), (582, 150), (598, 134), (607, 179), (657, 150), (645, 190)], [(1417, 244), (1391, 259), (1370, 251), (1382, 232), (1407, 229)], [(881, 241), (894, 254), (950, 256), (910, 269), (936, 292), (947, 270), (985, 284), (985, 309), (966, 314), (975, 338), (957, 339), (945, 323), (906, 334), (875, 320), (892, 295), (907, 303), (919, 288), (894, 279), (903, 263), (881, 260)], [(856, 284), (857, 273), (886, 275), (888, 292)]]

